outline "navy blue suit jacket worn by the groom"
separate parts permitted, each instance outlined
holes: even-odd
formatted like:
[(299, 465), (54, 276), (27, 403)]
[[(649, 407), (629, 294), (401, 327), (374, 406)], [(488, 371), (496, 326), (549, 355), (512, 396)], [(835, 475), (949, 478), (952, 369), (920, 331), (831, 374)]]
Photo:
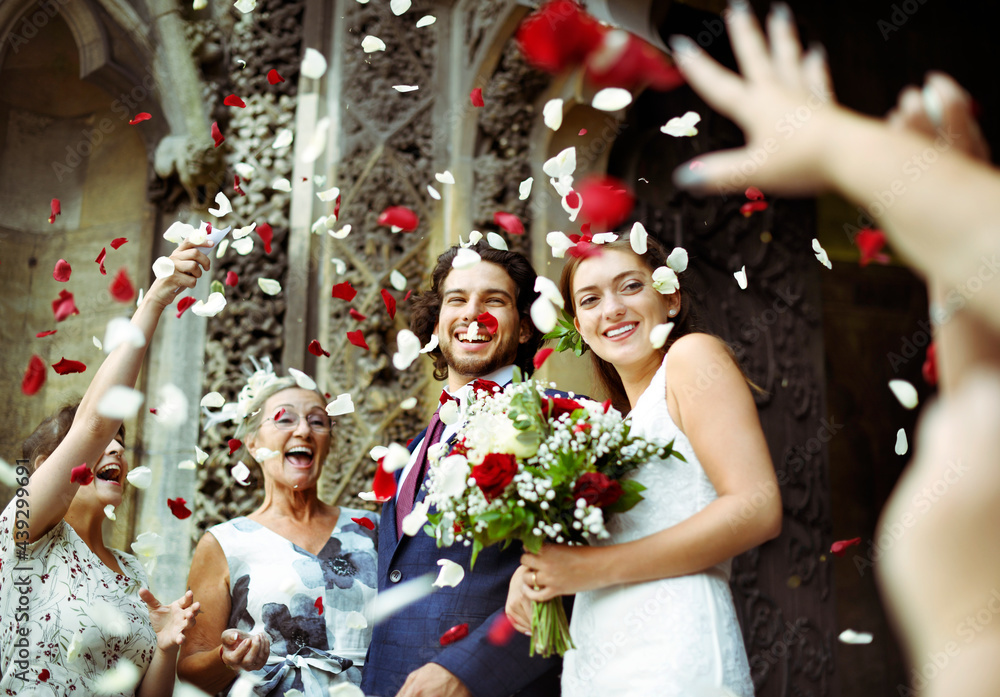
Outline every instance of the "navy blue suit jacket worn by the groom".
[[(565, 393), (550, 391), (562, 396)], [(411, 452), (426, 429), (410, 444)], [(402, 470), (397, 471), (397, 484)], [(417, 501), (426, 491), (421, 487)], [(513, 543), (501, 551), (487, 547), (469, 569), (472, 547), (455, 543), (438, 548), (433, 537), (418, 532), (396, 540), (396, 499), (382, 505), (378, 540), (378, 590), (440, 570), (438, 559), (465, 569), (455, 588), (440, 588), (375, 625), (365, 660), (361, 690), (369, 697), (395, 697), (406, 676), (426, 663), (437, 663), (459, 678), (474, 697), (552, 697), (559, 694), (558, 657), (528, 655), (530, 638), (514, 632), (503, 646), (487, 639), (494, 619), (504, 613), (510, 578), (520, 564), (522, 548)], [(469, 636), (442, 647), (441, 635), (468, 622)]]

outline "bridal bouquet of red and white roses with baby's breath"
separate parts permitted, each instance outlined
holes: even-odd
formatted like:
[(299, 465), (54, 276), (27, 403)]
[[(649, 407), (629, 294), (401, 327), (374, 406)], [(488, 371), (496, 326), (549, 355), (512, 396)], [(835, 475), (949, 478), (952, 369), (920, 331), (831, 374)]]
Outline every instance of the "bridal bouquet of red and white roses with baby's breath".
[[(607, 516), (632, 508), (645, 488), (624, 476), (653, 457), (680, 457), (673, 442), (630, 436), (610, 402), (550, 396), (519, 378), (515, 370), (503, 391), (473, 383), (455, 440), (428, 452), (424, 529), (439, 547), (471, 545), (473, 566), (496, 543), (538, 552), (545, 541), (608, 537)], [(535, 603), (531, 628), (532, 654), (573, 648), (561, 598)]]

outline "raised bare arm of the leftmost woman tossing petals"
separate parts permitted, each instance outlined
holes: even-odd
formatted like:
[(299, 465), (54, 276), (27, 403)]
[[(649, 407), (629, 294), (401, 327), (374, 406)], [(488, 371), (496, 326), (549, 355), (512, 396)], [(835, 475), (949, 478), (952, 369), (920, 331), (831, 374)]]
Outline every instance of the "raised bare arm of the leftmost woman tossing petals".
[(66, 437), (31, 476), (27, 487), (31, 501), (29, 542), (35, 542), (62, 520), (80, 486), (70, 481), (73, 468), (82, 463), (93, 466), (121, 427), (121, 419), (100, 414), (97, 405), (101, 398), (115, 385), (135, 385), (160, 315), (180, 290), (193, 288), (202, 271), (209, 268), (208, 257), (187, 241), (177, 247), (170, 259), (174, 262), (174, 273), (156, 279), (132, 315), (132, 326), (145, 337), (144, 344), (137, 347), (123, 342), (104, 359), (83, 395)]

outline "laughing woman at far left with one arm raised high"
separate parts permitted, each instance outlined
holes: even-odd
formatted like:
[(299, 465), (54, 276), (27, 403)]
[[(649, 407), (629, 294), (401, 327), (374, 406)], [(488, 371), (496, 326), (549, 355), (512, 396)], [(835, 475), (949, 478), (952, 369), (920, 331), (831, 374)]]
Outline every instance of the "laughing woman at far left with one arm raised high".
[(177, 648), (198, 603), (187, 593), (160, 605), (135, 557), (104, 544), (105, 509), (121, 503), (128, 463), (121, 419), (98, 407), (112, 387), (135, 385), (160, 315), (209, 267), (188, 242), (170, 258), (174, 273), (153, 282), (132, 317), (143, 346), (115, 348), (79, 405), (24, 444), (34, 473), (0, 514), (0, 693), (109, 694), (101, 676), (116, 666), (124, 673), (126, 661), (137, 679), (111, 694), (173, 692)]

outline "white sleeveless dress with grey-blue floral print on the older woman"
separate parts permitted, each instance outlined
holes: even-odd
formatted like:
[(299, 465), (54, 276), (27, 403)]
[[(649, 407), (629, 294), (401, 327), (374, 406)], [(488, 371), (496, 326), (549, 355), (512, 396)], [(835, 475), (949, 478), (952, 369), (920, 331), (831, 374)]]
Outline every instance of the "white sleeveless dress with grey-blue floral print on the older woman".
[(271, 639), (267, 664), (254, 674), (255, 694), (327, 697), (333, 685), (361, 684), (377, 588), (378, 521), (377, 513), (341, 507), (318, 555), (249, 518), (209, 529), (229, 564), (227, 626)]

